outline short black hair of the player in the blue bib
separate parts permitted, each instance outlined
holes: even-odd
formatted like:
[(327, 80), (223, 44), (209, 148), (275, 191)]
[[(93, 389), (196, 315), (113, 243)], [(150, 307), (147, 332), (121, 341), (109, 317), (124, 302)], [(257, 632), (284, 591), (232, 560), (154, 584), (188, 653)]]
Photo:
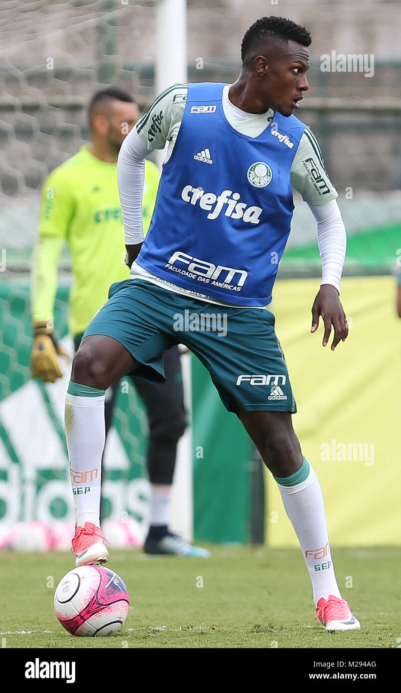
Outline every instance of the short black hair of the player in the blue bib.
[(305, 26), (295, 24), (291, 19), (285, 17), (260, 17), (251, 24), (244, 33), (241, 43), (241, 60), (244, 62), (251, 51), (265, 40), (272, 41), (295, 41), (301, 46), (310, 46), (312, 38)]

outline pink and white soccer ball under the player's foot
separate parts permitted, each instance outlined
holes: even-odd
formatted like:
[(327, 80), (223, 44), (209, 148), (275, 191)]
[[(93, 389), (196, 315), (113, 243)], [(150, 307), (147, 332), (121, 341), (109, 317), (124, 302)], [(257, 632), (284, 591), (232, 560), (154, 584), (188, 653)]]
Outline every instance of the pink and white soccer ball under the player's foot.
[(82, 565), (60, 580), (54, 595), (55, 615), (71, 635), (112, 635), (130, 608), (130, 595), (114, 570)]

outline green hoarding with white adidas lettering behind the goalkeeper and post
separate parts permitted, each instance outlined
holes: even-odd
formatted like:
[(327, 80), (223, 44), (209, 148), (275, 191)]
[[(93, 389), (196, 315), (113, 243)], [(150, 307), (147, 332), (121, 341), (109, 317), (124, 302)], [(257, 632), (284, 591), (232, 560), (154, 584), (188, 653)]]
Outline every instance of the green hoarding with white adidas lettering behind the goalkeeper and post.
[[(61, 284), (55, 300), (55, 328), (62, 338), (67, 331), (68, 292), (69, 286)], [(70, 520), (73, 506), (63, 429), (64, 391), (61, 381), (43, 385), (30, 377), (32, 335), (26, 277), (1, 284), (0, 320), (0, 525), (10, 518), (12, 522)], [(247, 542), (249, 439), (237, 417), (224, 409), (208, 373), (195, 357), (191, 366), (195, 538)], [(65, 390), (68, 372), (64, 380)], [(130, 379), (124, 380), (109, 454), (105, 454), (105, 516), (118, 518), (127, 511), (141, 523), (148, 514), (148, 424), (135, 388)]]

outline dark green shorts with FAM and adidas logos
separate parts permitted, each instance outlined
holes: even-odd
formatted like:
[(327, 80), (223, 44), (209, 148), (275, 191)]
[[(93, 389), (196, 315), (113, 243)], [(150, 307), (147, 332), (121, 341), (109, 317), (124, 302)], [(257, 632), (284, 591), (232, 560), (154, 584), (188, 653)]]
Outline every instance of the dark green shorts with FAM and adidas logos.
[(274, 322), (269, 310), (219, 306), (127, 279), (112, 284), (84, 337), (113, 337), (138, 361), (134, 375), (156, 382), (164, 380), (164, 351), (185, 344), (208, 369), (229, 412), (294, 413)]

